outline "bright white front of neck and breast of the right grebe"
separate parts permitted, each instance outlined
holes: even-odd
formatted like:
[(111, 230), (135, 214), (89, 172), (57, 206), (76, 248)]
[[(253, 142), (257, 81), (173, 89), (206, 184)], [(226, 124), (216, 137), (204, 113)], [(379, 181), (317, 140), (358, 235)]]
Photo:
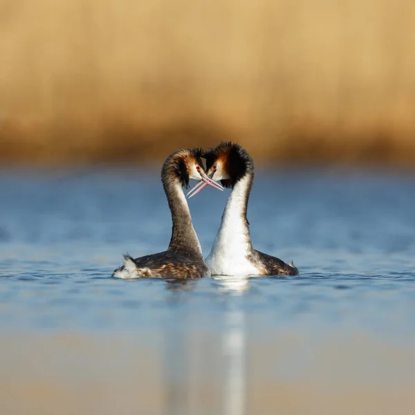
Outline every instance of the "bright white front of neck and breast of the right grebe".
[(248, 224), (244, 217), (250, 176), (234, 186), (223, 211), (221, 227), (210, 254), (205, 259), (212, 275), (257, 275), (257, 268), (247, 257), (252, 248)]

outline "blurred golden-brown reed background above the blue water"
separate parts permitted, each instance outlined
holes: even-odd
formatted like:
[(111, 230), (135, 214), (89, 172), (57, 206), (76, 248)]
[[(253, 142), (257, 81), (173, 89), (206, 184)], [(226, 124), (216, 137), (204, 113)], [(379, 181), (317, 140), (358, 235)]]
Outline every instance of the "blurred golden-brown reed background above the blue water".
[(0, 159), (415, 160), (413, 0), (1, 0)]

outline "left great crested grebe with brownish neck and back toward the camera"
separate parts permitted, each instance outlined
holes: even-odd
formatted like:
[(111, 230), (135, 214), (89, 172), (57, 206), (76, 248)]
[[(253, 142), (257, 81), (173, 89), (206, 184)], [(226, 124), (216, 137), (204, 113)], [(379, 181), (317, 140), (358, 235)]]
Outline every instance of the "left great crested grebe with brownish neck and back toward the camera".
[(169, 248), (158, 254), (133, 259), (124, 255), (124, 265), (113, 272), (113, 277), (132, 279), (139, 277), (202, 278), (209, 277), (210, 270), (203, 261), (201, 245), (192, 225), (189, 206), (183, 186), (189, 179), (223, 190), (209, 178), (201, 160), (203, 150), (181, 149), (167, 157), (161, 169), (161, 181), (172, 212), (172, 239)]

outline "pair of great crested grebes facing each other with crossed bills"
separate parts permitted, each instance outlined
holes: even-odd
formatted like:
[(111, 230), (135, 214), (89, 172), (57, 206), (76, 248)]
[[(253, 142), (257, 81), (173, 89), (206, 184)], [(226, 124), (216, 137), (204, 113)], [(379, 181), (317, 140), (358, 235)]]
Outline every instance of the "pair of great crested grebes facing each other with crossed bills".
[[(203, 168), (201, 158), (205, 158)], [(221, 226), (208, 257), (203, 260), (201, 245), (192, 225), (183, 187), (190, 178), (200, 181), (187, 196), (210, 185), (232, 192), (223, 211)], [(293, 264), (255, 250), (246, 219), (254, 179), (254, 163), (248, 151), (232, 142), (214, 149), (181, 149), (165, 160), (161, 180), (172, 212), (172, 239), (166, 251), (133, 259), (124, 255), (124, 264), (113, 277), (202, 278), (210, 275), (298, 275)], [(218, 183), (220, 182), (220, 183)]]

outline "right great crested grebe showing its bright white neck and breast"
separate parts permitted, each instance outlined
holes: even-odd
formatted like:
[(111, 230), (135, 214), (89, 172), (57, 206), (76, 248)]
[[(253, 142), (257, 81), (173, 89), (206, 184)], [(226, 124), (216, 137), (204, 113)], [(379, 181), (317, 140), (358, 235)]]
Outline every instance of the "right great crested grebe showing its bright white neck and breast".
[[(248, 151), (232, 142), (221, 142), (203, 157), (208, 176), (232, 188), (221, 227), (205, 259), (211, 275), (298, 275), (294, 264), (286, 264), (252, 247), (246, 210), (254, 180), (254, 162)], [(205, 183), (197, 183), (188, 195), (192, 197), (204, 187)]]

